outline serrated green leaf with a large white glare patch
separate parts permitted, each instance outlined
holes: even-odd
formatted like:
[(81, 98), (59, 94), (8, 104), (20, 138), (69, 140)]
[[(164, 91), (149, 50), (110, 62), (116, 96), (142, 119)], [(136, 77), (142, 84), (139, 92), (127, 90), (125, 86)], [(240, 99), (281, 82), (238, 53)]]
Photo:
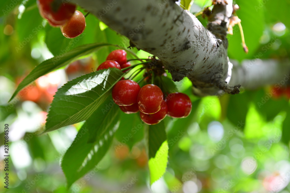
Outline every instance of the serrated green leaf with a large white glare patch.
[(110, 94), (123, 72), (109, 68), (83, 75), (62, 86), (55, 94), (46, 130), (53, 131), (88, 119)]

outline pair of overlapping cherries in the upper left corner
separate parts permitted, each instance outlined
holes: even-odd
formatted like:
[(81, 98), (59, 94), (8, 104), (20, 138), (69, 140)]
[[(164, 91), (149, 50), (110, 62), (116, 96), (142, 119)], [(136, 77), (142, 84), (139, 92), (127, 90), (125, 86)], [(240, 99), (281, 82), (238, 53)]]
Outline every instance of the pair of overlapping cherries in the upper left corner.
[(50, 26), (60, 27), (67, 38), (79, 36), (86, 28), (84, 14), (76, 10), (76, 5), (55, 0), (38, 0), (39, 13)]

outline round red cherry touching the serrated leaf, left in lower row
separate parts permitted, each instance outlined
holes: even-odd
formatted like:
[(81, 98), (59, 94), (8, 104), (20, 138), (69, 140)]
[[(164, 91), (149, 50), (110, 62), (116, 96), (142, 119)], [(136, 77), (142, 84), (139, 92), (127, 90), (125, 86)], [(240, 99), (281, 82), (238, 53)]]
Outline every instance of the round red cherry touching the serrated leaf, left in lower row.
[(112, 90), (114, 102), (120, 106), (128, 106), (137, 103), (140, 86), (133, 80), (121, 80), (115, 84)]

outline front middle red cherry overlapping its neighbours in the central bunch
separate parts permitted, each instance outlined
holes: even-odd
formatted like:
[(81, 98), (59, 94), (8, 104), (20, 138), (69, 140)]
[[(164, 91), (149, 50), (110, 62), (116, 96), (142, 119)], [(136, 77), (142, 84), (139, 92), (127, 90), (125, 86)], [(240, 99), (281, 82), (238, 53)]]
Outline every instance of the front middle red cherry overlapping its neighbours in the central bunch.
[(154, 84), (146, 84), (138, 94), (138, 108), (145, 114), (153, 114), (160, 110), (162, 100), (162, 90)]

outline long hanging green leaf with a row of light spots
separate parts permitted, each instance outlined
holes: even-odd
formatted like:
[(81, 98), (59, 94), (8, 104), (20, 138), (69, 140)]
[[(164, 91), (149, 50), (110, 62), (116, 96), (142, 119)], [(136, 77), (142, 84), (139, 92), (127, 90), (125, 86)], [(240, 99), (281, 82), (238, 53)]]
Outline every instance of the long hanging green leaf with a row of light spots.
[[(94, 169), (97, 172), (97, 164), (110, 147), (119, 126), (119, 107), (114, 104), (103, 114), (102, 109), (106, 104), (100, 105), (84, 123), (62, 159), (61, 167), (67, 179), (67, 187), (88, 171)], [(91, 135), (95, 136), (94, 143), (88, 143)]]

